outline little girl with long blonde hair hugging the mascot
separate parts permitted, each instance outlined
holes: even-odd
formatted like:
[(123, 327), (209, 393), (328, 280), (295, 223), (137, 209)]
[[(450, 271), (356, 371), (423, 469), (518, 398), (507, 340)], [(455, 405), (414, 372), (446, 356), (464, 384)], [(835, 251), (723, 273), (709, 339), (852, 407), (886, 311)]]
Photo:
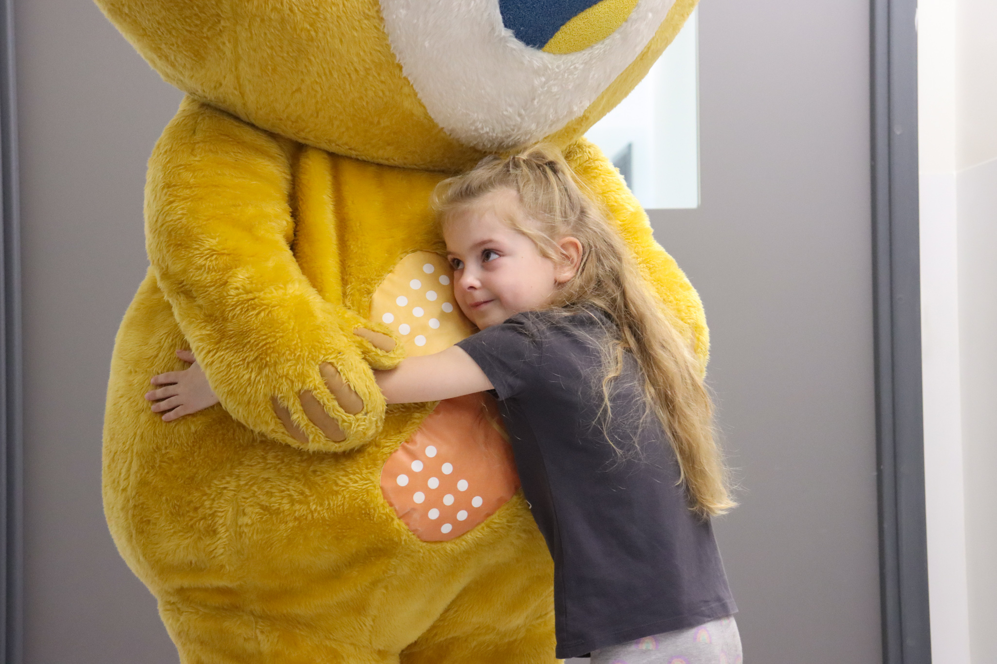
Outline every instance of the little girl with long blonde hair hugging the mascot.
[[(436, 205), (481, 332), (375, 376), (388, 403), (493, 390), (554, 560), (556, 656), (741, 662), (710, 526), (734, 506), (710, 398), (626, 245), (549, 147), (486, 158)], [(217, 402), (196, 363), (153, 383), (165, 420)]]

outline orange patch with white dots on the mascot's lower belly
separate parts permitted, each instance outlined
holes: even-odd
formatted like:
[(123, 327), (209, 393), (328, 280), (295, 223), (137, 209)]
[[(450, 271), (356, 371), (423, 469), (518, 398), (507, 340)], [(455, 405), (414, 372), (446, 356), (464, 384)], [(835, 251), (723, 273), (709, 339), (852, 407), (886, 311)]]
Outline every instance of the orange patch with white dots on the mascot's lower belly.
[(464, 535), (519, 488), (512, 450), (498, 421), (495, 401), (487, 394), (441, 401), (388, 458), (381, 492), (423, 542)]

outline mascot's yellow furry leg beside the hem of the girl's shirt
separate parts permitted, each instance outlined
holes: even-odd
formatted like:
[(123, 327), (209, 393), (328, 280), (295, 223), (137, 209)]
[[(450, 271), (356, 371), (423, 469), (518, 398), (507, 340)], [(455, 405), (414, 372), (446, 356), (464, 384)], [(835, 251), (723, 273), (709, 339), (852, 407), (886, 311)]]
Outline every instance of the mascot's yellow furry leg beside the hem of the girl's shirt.
[(433, 626), (402, 652), (401, 664), (558, 661), (554, 657), (553, 563), (539, 532), (529, 526), (531, 542), (524, 543), (522, 554), (483, 570)]

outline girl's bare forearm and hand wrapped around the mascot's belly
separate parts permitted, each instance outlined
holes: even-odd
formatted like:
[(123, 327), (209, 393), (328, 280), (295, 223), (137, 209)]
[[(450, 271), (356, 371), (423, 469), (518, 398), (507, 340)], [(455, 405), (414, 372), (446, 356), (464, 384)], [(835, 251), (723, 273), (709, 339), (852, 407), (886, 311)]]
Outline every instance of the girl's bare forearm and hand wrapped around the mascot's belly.
[[(194, 363), (183, 371), (153, 376), (153, 384), (163, 386), (146, 394), (148, 400), (156, 402), (153, 412), (164, 413), (166, 422), (218, 402), (193, 354), (189, 350), (177, 350), (176, 355), (185, 362)], [(409, 357), (393, 369), (374, 371), (374, 378), (388, 403), (439, 401), (492, 389), (485, 372), (458, 345), (432, 355)]]

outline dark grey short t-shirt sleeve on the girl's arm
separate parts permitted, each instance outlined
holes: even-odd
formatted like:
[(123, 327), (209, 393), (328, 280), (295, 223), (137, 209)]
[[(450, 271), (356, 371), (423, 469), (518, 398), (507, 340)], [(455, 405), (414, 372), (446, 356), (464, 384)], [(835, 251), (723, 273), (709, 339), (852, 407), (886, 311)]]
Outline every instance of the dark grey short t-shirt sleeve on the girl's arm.
[(540, 347), (531, 328), (517, 315), (457, 342), (485, 371), (499, 399), (522, 392), (536, 371)]

